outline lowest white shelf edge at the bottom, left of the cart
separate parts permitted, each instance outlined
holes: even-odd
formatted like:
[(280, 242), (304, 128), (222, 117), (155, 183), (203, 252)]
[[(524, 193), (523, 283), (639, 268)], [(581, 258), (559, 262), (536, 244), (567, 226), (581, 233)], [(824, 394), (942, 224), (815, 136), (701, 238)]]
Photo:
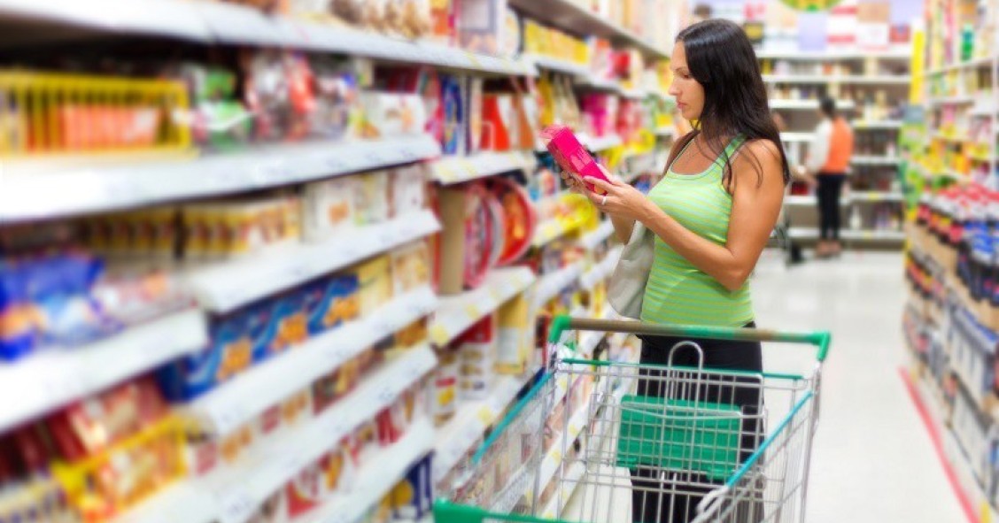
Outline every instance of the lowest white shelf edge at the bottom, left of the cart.
[[(407, 470), (434, 448), (434, 427), (423, 421), (410, 428), (407, 435), (381, 452), (378, 463), (370, 462), (352, 481), (347, 492), (325, 503), (302, 519), (303, 523), (352, 523), (361, 521), (406, 475)], [(432, 521), (432, 520), (431, 520)]]

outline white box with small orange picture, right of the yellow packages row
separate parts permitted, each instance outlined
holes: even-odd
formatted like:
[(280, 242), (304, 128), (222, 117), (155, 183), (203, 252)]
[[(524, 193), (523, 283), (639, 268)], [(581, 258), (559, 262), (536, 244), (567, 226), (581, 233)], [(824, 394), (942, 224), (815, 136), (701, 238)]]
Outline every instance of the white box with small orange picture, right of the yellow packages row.
[(302, 198), (303, 237), (322, 242), (355, 227), (359, 221), (354, 202), (363, 189), (357, 177), (340, 177), (306, 184)]

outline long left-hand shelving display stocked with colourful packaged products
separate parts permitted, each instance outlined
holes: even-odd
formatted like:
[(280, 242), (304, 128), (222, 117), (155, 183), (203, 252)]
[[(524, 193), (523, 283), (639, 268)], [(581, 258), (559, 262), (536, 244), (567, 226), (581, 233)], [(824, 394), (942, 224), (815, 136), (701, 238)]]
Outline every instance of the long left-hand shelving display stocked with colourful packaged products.
[(425, 521), (550, 314), (605, 312), (609, 223), (543, 126), (649, 171), (669, 40), (637, 5), (175, 3), (72, 45), (39, 4), (2, 65), (0, 521)]

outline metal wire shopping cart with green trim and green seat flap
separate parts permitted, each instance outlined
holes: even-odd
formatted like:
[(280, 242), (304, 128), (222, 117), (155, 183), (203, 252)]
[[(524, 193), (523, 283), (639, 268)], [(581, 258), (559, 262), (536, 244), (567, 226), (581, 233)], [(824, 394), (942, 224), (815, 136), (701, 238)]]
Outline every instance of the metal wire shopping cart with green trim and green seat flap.
[[(690, 340), (649, 365), (580, 359), (568, 330)], [(810, 344), (817, 361), (806, 375), (704, 368), (696, 338)], [(803, 521), (829, 342), (828, 332), (557, 317), (547, 372), (436, 503), (436, 521)], [(681, 351), (697, 364), (674, 365)]]

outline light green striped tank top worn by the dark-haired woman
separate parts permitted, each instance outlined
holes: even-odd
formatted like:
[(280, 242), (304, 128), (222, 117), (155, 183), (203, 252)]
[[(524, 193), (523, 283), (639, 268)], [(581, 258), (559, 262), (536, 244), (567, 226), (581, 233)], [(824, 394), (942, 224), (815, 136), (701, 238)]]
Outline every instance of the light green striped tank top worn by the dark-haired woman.
[[(725, 151), (731, 156), (742, 142), (742, 138), (736, 138)], [(697, 175), (677, 174), (670, 166), (662, 181), (648, 194), (655, 205), (681, 226), (719, 246), (725, 245), (732, 215), (732, 197), (722, 185), (722, 163), (719, 157)], [(738, 290), (729, 291), (656, 237), (655, 261), (645, 286), (641, 320), (661, 324), (742, 326), (753, 320), (749, 284), (746, 282)]]

